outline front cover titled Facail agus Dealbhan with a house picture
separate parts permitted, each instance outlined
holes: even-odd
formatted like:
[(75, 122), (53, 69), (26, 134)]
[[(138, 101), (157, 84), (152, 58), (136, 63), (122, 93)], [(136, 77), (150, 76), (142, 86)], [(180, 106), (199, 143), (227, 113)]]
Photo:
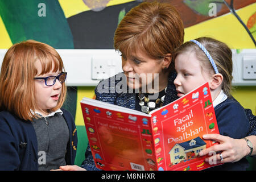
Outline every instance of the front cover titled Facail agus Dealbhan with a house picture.
[(152, 129), (158, 169), (201, 170), (214, 166), (205, 163), (199, 152), (212, 146), (204, 134), (218, 132), (210, 89), (203, 84), (178, 100), (152, 111)]

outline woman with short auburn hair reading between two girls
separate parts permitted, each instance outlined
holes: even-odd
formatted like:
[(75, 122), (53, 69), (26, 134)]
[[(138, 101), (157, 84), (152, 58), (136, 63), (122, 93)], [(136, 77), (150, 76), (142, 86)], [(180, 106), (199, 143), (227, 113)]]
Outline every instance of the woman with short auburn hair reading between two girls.
[[(131, 9), (119, 23), (114, 35), (114, 47), (122, 53), (123, 73), (101, 81), (95, 89), (96, 100), (144, 112), (160, 106), (161, 103), (156, 103), (158, 99), (163, 101), (163, 105), (176, 100), (177, 93), (174, 86), (176, 73), (172, 55), (174, 55), (175, 49), (183, 43), (183, 39), (182, 20), (176, 9), (170, 4), (144, 2)], [(148, 73), (152, 75), (150, 76)], [(122, 81), (120, 81), (121, 78)], [(119, 85), (120, 82), (122, 82), (122, 86)], [(125, 89), (126, 85), (127, 89)], [(142, 103), (141, 93), (143, 91), (149, 98), (148, 103), (155, 102), (148, 108), (145, 103)], [(153, 93), (156, 97), (150, 98)], [(158, 100), (158, 103), (160, 101)], [(251, 122), (250, 135), (255, 135), (256, 118), (250, 110), (246, 111)], [(213, 136), (211, 137), (213, 138)], [(220, 137), (224, 136), (220, 135)], [(256, 139), (253, 137), (250, 139), (256, 146)], [(248, 149), (245, 143), (236, 142), (235, 145), (233, 150), (236, 150), (237, 147), (243, 148), (245, 151)], [(220, 149), (221, 151), (230, 151), (225, 146), (216, 149), (216, 151)], [(205, 151), (201, 154), (205, 155), (208, 152)], [(88, 170), (96, 169), (89, 147), (85, 157), (82, 167)], [(220, 160), (220, 155), (216, 157)], [(228, 157), (226, 156), (226, 158)]]

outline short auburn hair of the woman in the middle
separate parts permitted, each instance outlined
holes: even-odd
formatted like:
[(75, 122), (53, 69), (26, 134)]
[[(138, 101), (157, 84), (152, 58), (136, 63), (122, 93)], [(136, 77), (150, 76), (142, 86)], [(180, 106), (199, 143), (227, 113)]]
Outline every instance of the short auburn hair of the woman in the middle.
[(131, 9), (114, 34), (114, 48), (126, 57), (136, 50), (153, 59), (174, 53), (184, 40), (179, 13), (168, 3), (144, 2)]

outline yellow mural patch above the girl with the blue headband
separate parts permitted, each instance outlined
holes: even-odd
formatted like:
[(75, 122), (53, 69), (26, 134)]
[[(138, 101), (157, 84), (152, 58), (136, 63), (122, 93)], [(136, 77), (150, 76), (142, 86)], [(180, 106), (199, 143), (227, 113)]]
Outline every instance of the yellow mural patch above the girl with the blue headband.
[[(256, 3), (253, 3), (236, 12), (246, 24), (247, 20), (255, 13), (255, 11)], [(242, 24), (231, 13), (185, 28), (185, 42), (199, 38), (200, 36), (210, 36), (221, 40), (228, 44), (232, 49), (255, 48), (253, 41), (250, 39), (245, 28), (243, 28)]]

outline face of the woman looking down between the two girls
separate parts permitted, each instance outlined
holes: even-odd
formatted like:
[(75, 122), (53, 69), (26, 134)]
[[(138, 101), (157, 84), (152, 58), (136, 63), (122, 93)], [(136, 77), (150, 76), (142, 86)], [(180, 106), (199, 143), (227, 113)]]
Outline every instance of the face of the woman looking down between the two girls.
[[(137, 51), (130, 57), (122, 54), (122, 69), (127, 77), (127, 85), (132, 89), (154, 88), (159, 84), (163, 60), (155, 60), (142, 51)], [(151, 86), (151, 87), (150, 87)]]

